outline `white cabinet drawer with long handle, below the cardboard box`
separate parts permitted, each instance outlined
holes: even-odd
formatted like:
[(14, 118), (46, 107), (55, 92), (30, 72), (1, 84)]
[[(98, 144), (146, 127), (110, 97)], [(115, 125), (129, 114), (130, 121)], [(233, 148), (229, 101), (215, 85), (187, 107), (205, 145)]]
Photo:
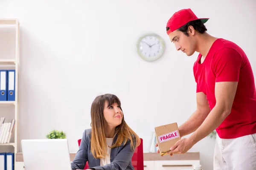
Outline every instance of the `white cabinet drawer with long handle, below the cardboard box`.
[(193, 170), (195, 164), (200, 164), (199, 160), (177, 160), (177, 161), (154, 161), (155, 170)]

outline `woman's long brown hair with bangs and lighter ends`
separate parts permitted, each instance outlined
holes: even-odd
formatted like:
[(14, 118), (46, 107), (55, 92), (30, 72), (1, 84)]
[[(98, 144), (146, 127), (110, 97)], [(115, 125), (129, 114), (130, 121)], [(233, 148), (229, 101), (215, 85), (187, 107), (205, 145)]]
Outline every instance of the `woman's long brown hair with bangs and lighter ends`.
[[(104, 130), (104, 116), (103, 110), (105, 106), (105, 101), (108, 102), (108, 106), (117, 103), (120, 105), (121, 102), (119, 98), (114, 94), (104, 94), (97, 96), (91, 106), (91, 152), (95, 158), (105, 158), (107, 156), (107, 143)], [(122, 110), (122, 108), (121, 108)], [(116, 127), (116, 132), (114, 137), (117, 136), (116, 142), (111, 146), (118, 147), (122, 143), (131, 141), (131, 149), (135, 150), (137, 146), (140, 145), (140, 137), (126, 124), (124, 116), (122, 117), (122, 122)]]

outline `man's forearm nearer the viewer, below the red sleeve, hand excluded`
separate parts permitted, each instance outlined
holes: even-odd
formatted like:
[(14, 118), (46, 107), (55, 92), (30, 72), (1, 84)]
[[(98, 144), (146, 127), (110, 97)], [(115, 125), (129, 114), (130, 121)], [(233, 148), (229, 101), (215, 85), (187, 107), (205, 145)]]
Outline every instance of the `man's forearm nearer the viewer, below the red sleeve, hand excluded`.
[(202, 125), (198, 127), (195, 133), (193, 133), (189, 138), (194, 144), (197, 143), (215, 130), (221, 124), (221, 122), (224, 121), (229, 113), (230, 111), (226, 111), (221, 107), (215, 106)]

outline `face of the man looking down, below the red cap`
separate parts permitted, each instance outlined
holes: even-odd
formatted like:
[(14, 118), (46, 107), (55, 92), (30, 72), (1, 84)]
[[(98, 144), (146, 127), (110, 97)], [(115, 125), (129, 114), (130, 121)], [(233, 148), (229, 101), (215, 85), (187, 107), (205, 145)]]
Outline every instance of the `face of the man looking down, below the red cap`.
[(191, 56), (195, 53), (195, 40), (190, 31), (188, 31), (188, 34), (189, 36), (181, 31), (175, 30), (169, 34), (169, 38), (171, 42), (174, 43), (177, 51), (180, 50), (183, 53), (186, 53), (187, 56)]

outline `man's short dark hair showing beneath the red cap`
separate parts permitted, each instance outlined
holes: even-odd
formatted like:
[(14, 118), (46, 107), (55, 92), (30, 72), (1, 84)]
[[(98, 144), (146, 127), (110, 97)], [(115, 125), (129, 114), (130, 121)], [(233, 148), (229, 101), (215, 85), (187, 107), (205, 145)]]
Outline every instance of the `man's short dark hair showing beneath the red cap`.
[[(207, 28), (204, 26), (204, 23), (202, 23), (201, 20), (193, 20), (186, 23), (184, 26), (178, 28), (179, 31), (183, 32), (186, 36), (189, 36), (188, 28), (189, 26), (192, 26), (196, 31), (203, 34), (205, 31), (207, 31)], [(168, 31), (170, 28), (166, 27), (166, 31)]]

